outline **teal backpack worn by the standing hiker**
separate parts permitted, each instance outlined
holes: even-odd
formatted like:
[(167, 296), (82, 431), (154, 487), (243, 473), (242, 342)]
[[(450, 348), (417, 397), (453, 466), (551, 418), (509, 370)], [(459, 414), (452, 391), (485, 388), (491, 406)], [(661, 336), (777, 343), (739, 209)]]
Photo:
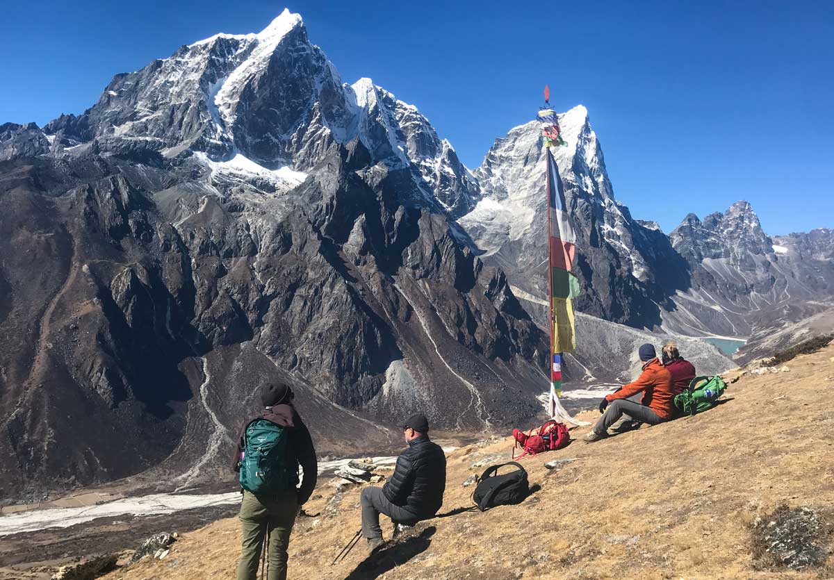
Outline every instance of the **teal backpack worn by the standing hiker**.
[(240, 487), (256, 495), (283, 492), (297, 483), (298, 470), (287, 465), (287, 430), (266, 419), (254, 419), (244, 430)]

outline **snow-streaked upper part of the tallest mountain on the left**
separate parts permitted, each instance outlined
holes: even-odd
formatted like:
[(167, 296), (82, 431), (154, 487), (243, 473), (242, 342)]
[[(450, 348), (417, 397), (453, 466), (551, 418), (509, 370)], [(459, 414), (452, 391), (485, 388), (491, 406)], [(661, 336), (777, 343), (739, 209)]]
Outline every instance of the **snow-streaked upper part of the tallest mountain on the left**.
[(216, 163), (240, 157), (301, 172), (334, 143), (358, 139), (374, 163), (411, 171), (423, 192), (415, 203), (457, 218), (480, 198), (454, 148), (417, 107), (369, 78), (344, 84), (289, 10), (261, 32), (215, 34), (117, 75), (95, 106), (50, 123), (48, 134), (58, 147), (96, 138), (107, 148), (118, 138), (168, 157), (190, 149)]

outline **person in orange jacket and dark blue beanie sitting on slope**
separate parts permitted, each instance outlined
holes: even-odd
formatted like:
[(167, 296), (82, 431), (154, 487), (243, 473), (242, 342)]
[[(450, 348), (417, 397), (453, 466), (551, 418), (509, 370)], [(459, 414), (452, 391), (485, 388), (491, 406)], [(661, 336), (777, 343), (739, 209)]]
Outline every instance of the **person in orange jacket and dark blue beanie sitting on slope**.
[[(644, 344), (638, 354), (643, 363), (643, 372), (633, 383), (628, 383), (615, 393), (605, 395), (600, 403), (600, 413), (604, 414), (590, 433), (583, 438), (585, 443), (607, 437), (608, 428), (619, 421), (624, 414), (649, 425), (675, 418), (675, 405), (672, 403), (675, 393), (672, 388), (671, 373), (663, 366), (663, 363), (657, 360), (653, 345)], [(643, 393), (640, 403), (627, 400), (637, 393)]]

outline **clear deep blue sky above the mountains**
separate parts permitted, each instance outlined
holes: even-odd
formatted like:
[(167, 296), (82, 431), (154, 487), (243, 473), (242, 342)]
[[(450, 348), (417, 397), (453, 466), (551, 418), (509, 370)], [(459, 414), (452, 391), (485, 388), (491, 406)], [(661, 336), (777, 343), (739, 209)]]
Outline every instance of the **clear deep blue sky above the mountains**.
[[(626, 4), (631, 4), (626, 6)], [(113, 74), (287, 6), (343, 80), (413, 102), (475, 167), (550, 83), (585, 104), (616, 198), (666, 232), (746, 199), (834, 227), (831, 2), (6, 2), (0, 122), (82, 112)]]

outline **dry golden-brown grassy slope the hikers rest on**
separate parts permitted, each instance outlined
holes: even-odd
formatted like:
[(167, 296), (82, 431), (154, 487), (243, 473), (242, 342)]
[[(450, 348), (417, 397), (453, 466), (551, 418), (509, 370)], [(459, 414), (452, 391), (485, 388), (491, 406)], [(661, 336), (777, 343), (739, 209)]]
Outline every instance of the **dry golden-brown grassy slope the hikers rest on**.
[[(743, 376), (731, 385), (730, 401), (695, 418), (525, 458), (541, 489), (519, 506), (435, 518), (370, 561), (358, 547), (330, 567), (359, 526), (359, 488), (351, 488), (336, 515), (299, 519), (289, 577), (834, 577), (831, 557), (816, 572), (756, 570), (748, 534), (756, 514), (780, 502), (834, 517), (832, 361), (834, 346), (794, 359), (790, 373)], [(480, 471), (471, 463), (509, 449), (504, 439), (451, 454), (441, 512), (469, 505), (471, 488), (461, 483)], [(575, 462), (549, 472), (544, 463), (555, 458)], [(325, 485), (306, 510), (322, 512), (332, 495)], [(535, 540), (520, 538), (535, 532)], [(186, 534), (163, 561), (108, 578), (234, 577), (238, 542), (238, 522), (222, 520)]]

